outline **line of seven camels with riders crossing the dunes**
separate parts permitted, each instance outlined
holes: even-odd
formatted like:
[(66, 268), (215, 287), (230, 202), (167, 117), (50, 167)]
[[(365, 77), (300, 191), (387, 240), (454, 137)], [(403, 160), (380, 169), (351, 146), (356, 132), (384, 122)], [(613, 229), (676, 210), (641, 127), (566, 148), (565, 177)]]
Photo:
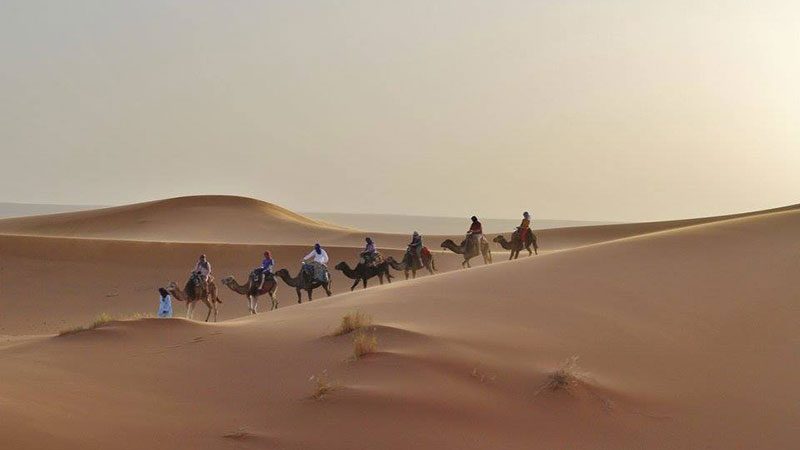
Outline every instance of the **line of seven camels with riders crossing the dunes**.
[[(477, 256), (483, 258), (484, 264), (492, 263), (492, 251), (489, 241), (483, 234), (483, 226), (477, 217), (473, 216), (471, 220), (472, 224), (461, 243), (456, 244), (452, 239), (447, 239), (441, 243), (441, 248), (463, 256), (464, 261), (461, 266), (464, 268), (471, 267), (470, 260)], [(503, 249), (510, 251), (509, 259), (519, 258), (522, 250), (527, 250), (528, 256), (539, 254), (538, 242), (536, 235), (530, 229), (530, 215), (527, 212), (523, 214), (522, 223), (512, 233), (510, 239), (506, 239), (503, 235), (497, 235), (492, 241)], [(306, 292), (308, 301), (312, 300), (313, 292), (317, 288), (322, 288), (329, 297), (333, 295), (328, 262), (328, 253), (325, 249), (319, 243), (314, 244), (311, 252), (301, 260), (300, 271), (297, 275), (292, 276), (288, 269), (275, 271), (275, 260), (272, 258), (272, 254), (266, 251), (264, 252), (261, 266), (250, 272), (244, 284), (240, 284), (234, 276), (226, 276), (221, 281), (224, 286), (227, 286), (233, 292), (244, 295), (247, 298), (249, 313), (257, 314), (259, 297), (265, 295), (269, 297), (270, 311), (278, 307), (278, 298), (276, 296), (278, 279), (295, 289), (297, 303), (302, 302), (303, 291)], [(422, 269), (425, 269), (431, 275), (437, 272), (433, 253), (423, 245), (422, 236), (416, 231), (411, 235), (411, 242), (406, 247), (406, 252), (400, 261), (392, 256), (384, 258), (378, 252), (372, 238), (367, 237), (366, 245), (359, 254), (358, 262), (355, 266), (351, 267), (346, 261), (342, 261), (336, 264), (334, 268), (353, 280), (353, 284), (350, 286), (351, 291), (359, 283), (366, 289), (367, 282), (375, 277), (378, 278), (380, 284), (383, 284), (384, 279), (387, 283), (391, 283), (394, 277), (389, 270), (390, 268), (403, 272), (406, 280), (409, 276), (416, 278), (417, 272)], [(187, 319), (194, 318), (194, 309), (198, 302), (202, 302), (208, 308), (205, 321), (209, 321), (212, 313), (214, 321), (217, 321), (217, 305), (222, 304), (222, 300), (219, 298), (214, 277), (211, 276), (211, 263), (206, 255), (200, 255), (183, 289), (172, 281), (166, 288), (160, 288), (159, 290), (161, 292), (166, 291), (175, 300), (186, 302)], [(161, 301), (168, 303), (169, 299), (162, 295)]]

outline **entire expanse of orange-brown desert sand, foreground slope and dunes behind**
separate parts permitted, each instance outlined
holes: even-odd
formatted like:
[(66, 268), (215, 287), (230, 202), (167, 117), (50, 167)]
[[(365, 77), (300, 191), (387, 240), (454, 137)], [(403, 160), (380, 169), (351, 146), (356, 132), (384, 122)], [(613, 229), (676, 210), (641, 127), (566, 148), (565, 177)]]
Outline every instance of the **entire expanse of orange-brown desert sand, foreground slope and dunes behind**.
[[(256, 316), (222, 288), (218, 323), (57, 336), (102, 312), (153, 312), (155, 288), (183, 281), (200, 252), (217, 278), (244, 277), (265, 247), (294, 272), (315, 240), (353, 262), (364, 233), (231, 197), (0, 221), (0, 443), (793, 448), (798, 230), (798, 206), (544, 230), (539, 256), (457, 270), (437, 252), (437, 275), (351, 293), (335, 272), (334, 296), (300, 305), (280, 284), (281, 307)], [(397, 255), (407, 239), (376, 236)], [(353, 334), (332, 335), (354, 311), (377, 339), (360, 359)], [(572, 357), (574, 383), (543, 389)], [(312, 399), (322, 373), (334, 389)]]

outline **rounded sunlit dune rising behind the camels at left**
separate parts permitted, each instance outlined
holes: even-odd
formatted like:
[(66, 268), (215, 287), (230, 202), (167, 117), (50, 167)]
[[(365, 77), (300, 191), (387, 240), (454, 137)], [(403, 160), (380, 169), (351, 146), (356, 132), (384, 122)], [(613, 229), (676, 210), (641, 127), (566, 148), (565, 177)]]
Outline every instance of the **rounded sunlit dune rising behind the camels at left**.
[(305, 244), (353, 230), (233, 196), (179, 197), (0, 220), (0, 233), (137, 241)]

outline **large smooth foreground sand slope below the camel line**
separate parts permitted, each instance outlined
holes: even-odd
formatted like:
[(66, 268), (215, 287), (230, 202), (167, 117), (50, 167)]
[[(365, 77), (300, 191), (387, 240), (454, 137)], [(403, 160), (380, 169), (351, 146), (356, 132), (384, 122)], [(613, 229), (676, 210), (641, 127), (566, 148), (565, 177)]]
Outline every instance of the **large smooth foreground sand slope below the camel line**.
[[(798, 230), (800, 211), (766, 213), (218, 325), (14, 340), (0, 344), (0, 436), (16, 449), (792, 448)], [(379, 339), (361, 361), (328, 336), (355, 309)], [(586, 382), (536, 395), (570, 355)], [(324, 369), (340, 389), (309, 400)]]

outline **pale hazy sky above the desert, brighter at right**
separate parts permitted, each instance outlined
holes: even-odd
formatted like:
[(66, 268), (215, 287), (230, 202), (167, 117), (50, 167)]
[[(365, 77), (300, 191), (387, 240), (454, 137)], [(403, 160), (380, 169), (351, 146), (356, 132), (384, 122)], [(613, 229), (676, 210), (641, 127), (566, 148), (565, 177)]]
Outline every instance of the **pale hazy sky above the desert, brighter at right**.
[(798, 203), (798, 24), (796, 0), (3, 0), (0, 201)]

